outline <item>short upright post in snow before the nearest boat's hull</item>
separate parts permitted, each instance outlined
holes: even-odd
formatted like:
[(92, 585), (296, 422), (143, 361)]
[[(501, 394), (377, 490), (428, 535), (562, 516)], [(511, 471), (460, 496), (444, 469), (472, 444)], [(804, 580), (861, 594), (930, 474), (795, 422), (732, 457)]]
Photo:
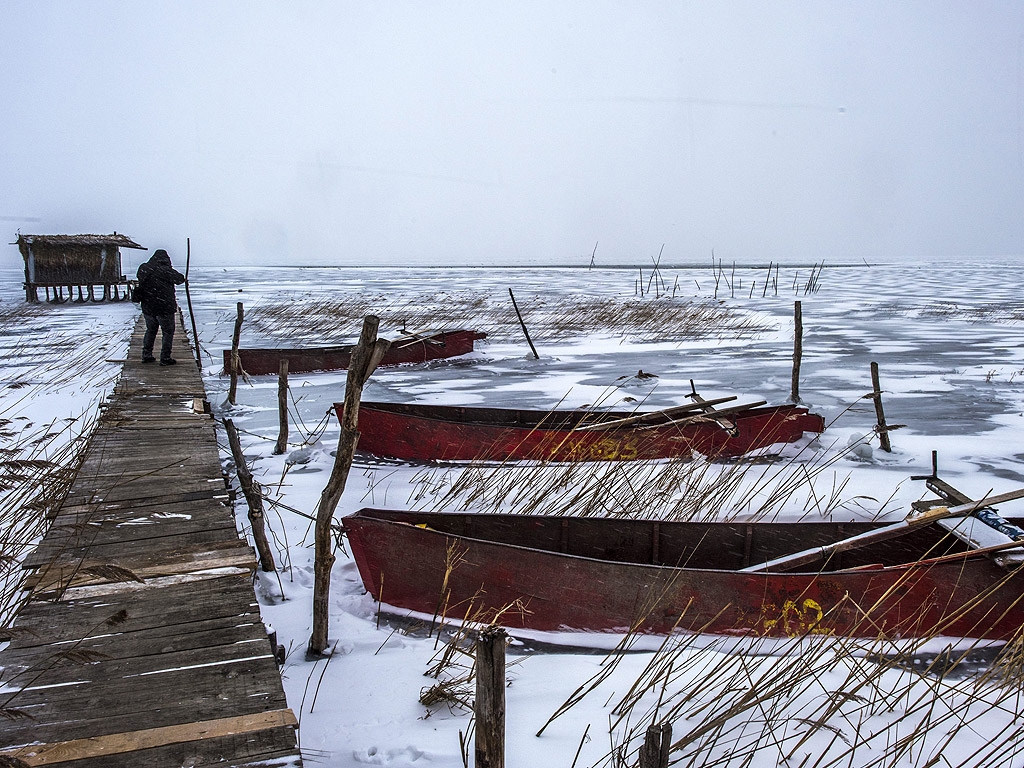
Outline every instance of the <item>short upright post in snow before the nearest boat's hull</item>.
[(476, 640), (476, 768), (505, 768), (505, 630)]

